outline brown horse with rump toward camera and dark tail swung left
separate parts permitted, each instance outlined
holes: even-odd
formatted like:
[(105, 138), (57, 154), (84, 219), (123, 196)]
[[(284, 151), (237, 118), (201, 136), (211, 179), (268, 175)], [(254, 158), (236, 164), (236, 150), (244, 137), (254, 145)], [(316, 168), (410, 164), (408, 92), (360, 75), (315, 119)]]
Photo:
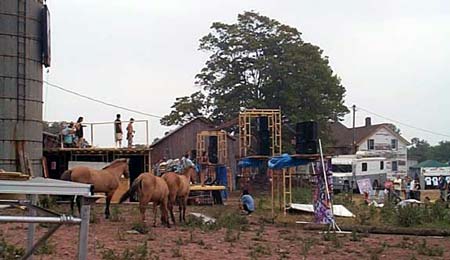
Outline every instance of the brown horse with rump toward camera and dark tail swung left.
[(132, 197), (137, 192), (139, 197), (139, 210), (141, 211), (142, 222), (145, 223), (145, 209), (147, 204), (153, 202), (153, 226), (156, 226), (156, 212), (158, 205), (161, 209), (161, 222), (170, 227), (169, 218), (167, 214), (167, 203), (169, 200), (169, 188), (167, 183), (161, 178), (152, 173), (141, 173), (131, 185), (131, 188), (125, 192), (120, 198), (120, 202), (124, 202), (129, 197)]

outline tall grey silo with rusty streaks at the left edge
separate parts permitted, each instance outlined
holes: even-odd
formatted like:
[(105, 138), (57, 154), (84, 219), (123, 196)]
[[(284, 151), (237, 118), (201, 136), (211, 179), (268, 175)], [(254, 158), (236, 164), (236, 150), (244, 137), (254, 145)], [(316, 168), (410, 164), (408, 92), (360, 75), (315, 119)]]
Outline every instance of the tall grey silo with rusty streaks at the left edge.
[[(0, 168), (42, 175), (43, 0), (0, 1)], [(28, 163), (28, 162), (29, 163)]]

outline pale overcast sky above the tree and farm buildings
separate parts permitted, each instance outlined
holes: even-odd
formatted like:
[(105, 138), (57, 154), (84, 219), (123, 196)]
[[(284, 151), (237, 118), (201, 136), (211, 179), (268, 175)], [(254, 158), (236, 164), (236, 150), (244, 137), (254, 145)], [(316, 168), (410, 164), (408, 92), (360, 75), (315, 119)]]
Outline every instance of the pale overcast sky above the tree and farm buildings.
[[(142, 1), (47, 0), (52, 66), (44, 80), (109, 103), (166, 115), (176, 97), (198, 90), (208, 53), (199, 39), (213, 22), (257, 11), (296, 27), (319, 46), (356, 105), (356, 125), (393, 123), (431, 144), (450, 140), (449, 1)], [(367, 111), (370, 111), (367, 112)], [(121, 111), (44, 86), (44, 120), (148, 120), (150, 142), (168, 128), (158, 118)], [(382, 117), (380, 117), (382, 116)], [(352, 116), (344, 124), (352, 125)], [(402, 124), (399, 124), (402, 123)], [(426, 131), (420, 130), (424, 129)], [(145, 143), (145, 123), (135, 142)], [(428, 131), (428, 132), (427, 132)], [(87, 139), (91, 130), (88, 128)], [(433, 133), (430, 133), (433, 132)], [(113, 126), (94, 127), (94, 144), (113, 145)]]

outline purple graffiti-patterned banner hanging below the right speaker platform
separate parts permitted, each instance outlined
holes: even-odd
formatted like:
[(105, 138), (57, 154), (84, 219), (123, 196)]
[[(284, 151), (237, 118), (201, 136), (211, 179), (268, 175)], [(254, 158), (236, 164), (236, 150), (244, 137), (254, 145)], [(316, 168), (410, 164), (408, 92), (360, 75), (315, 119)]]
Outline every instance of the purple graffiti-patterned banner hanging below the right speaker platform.
[(331, 201), (333, 196), (333, 176), (330, 171), (331, 159), (325, 161), (326, 174), (323, 172), (322, 163), (316, 162), (313, 167), (313, 179), (315, 180), (313, 197), (315, 222), (320, 224), (334, 223), (334, 216), (331, 210)]

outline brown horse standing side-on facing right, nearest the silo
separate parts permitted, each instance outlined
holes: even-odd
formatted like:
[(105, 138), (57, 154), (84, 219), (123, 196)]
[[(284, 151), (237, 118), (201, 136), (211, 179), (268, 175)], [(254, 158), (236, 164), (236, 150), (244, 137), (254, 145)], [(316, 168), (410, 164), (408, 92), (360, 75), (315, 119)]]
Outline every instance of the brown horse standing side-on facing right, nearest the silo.
[[(92, 184), (94, 192), (104, 192), (106, 194), (105, 218), (108, 219), (110, 214), (109, 205), (114, 192), (119, 187), (120, 177), (122, 174), (125, 178), (130, 177), (128, 161), (129, 159), (117, 159), (101, 170), (95, 170), (86, 166), (76, 166), (65, 171), (61, 175), (61, 180)], [(73, 200), (71, 208), (73, 214)], [(78, 209), (80, 208), (78, 207)]]

